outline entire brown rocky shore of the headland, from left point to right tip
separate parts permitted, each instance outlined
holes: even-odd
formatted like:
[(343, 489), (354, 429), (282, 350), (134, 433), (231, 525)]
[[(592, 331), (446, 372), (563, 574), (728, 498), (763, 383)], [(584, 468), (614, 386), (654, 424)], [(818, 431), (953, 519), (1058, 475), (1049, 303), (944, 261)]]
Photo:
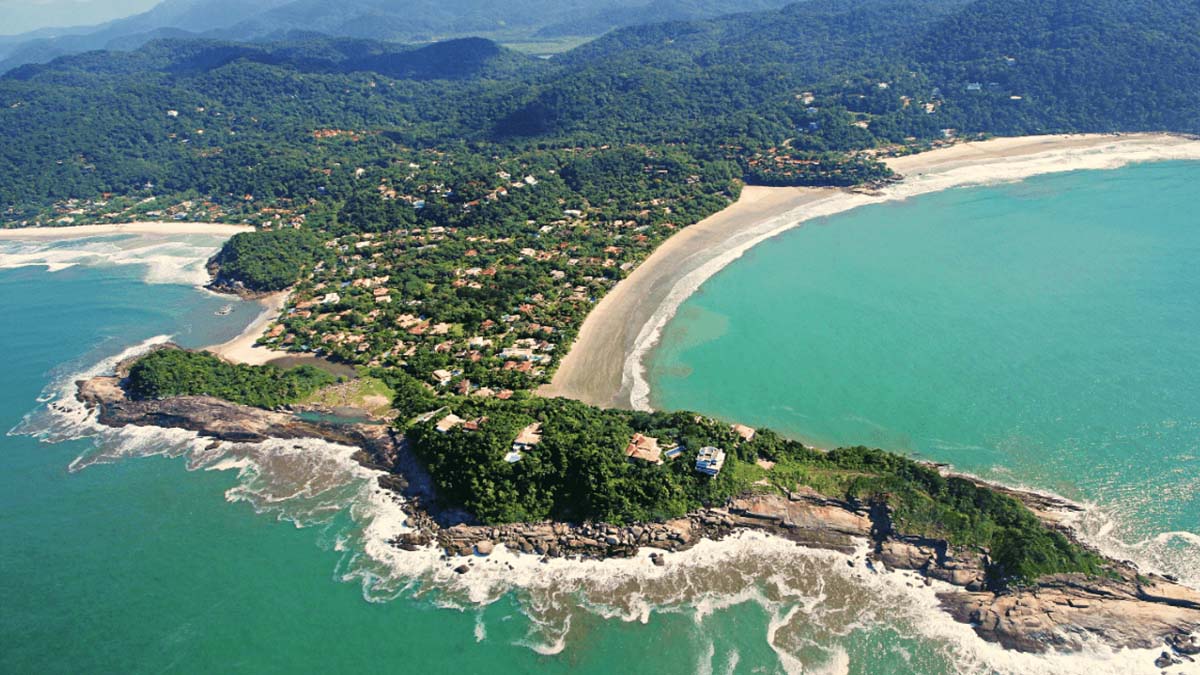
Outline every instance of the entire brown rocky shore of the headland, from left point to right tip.
[[(122, 388), (121, 369), (113, 377), (78, 383), (78, 398), (101, 424), (120, 428), (187, 429), (214, 442), (262, 442), (268, 438), (320, 438), (362, 449), (360, 462), (385, 471), (379, 484), (404, 497), (413, 530), (394, 545), (407, 550), (438, 546), (456, 572), (469, 574), (474, 560), (497, 546), (544, 558), (631, 557), (655, 549), (650, 560), (668, 565), (666, 552), (683, 551), (703, 539), (721, 539), (756, 530), (799, 546), (851, 554), (869, 545), (866, 563), (876, 569), (911, 571), (938, 592), (942, 607), (970, 623), (980, 638), (1022, 652), (1072, 651), (1098, 640), (1114, 649), (1159, 649), (1160, 667), (1200, 653), (1200, 592), (1171, 579), (1141, 573), (1133, 563), (1106, 561), (1105, 575), (1060, 574), (1036, 584), (1000, 591), (986, 585), (988, 552), (941, 539), (898, 531), (886, 506), (832, 498), (808, 488), (784, 494), (763, 490), (730, 498), (720, 507), (662, 522), (625, 526), (538, 522), (503, 526), (473, 524), (468, 514), (442, 509), (420, 462), (402, 438), (378, 424), (328, 424), (298, 419), (288, 412), (239, 406), (209, 396), (133, 400)], [(1018, 490), (986, 485), (1020, 500), (1049, 526), (1064, 530), (1058, 516), (1073, 504)], [(853, 560), (848, 561), (854, 565)]]

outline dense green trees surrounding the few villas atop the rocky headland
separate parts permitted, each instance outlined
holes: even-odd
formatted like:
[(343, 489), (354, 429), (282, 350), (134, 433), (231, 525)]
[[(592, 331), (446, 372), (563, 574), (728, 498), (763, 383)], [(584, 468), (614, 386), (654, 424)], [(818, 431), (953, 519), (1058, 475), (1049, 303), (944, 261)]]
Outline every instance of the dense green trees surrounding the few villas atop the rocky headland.
[[(562, 519), (607, 522), (683, 515), (752, 489), (811, 486), (826, 495), (881, 504), (906, 534), (936, 537), (991, 551), (989, 584), (1001, 589), (1044, 574), (1098, 574), (1097, 556), (1044, 526), (1013, 497), (935, 468), (868, 448), (823, 453), (760, 430), (745, 441), (727, 424), (686, 412), (601, 411), (562, 399), (480, 404), (457, 401), (456, 414), (478, 429), (436, 426), (449, 408), (408, 430), (443, 498), (464, 504), (485, 522)], [(541, 442), (520, 461), (505, 461), (514, 438), (541, 424)], [(685, 450), (662, 465), (629, 460), (622, 449), (635, 432)], [(695, 471), (696, 450), (728, 453), (724, 471)], [(775, 462), (766, 471), (758, 459)], [(755, 485), (768, 480), (772, 486)]]

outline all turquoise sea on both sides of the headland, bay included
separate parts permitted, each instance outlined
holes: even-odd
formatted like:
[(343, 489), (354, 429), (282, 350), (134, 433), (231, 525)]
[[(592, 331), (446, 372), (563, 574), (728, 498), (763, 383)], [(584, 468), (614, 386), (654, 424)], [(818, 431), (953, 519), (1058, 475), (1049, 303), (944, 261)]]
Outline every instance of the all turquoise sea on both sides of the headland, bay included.
[[(1195, 165), (1052, 177), (806, 227), (689, 301), (655, 356), (655, 395), (1123, 506), (1122, 534), (1195, 532), (1187, 500), (1200, 416), (1184, 371), (1196, 353), (1178, 322), (1196, 321), (1181, 280), (1193, 275), (1194, 298), (1188, 256), (1200, 238), (1110, 201), (1146, 190), (1141, 202), (1152, 195), (1178, 211), (1168, 196), (1196, 178)], [(1084, 202), (1109, 202), (1078, 222), (1034, 215), (1080, 189), (1094, 193)], [(1121, 208), (1128, 223), (1099, 217)], [(1109, 239), (1118, 245), (1102, 246)], [(0, 673), (1135, 671), (1003, 653), (942, 616), (911, 579), (768, 539), (697, 546), (666, 568), (508, 568), (498, 557), (458, 578), (436, 555), (383, 543), (395, 509), (344, 449), (210, 450), (184, 432), (95, 428), (70, 400), (74, 378), (168, 336), (228, 339), (256, 315), (234, 303), (215, 317), (229, 300), (194, 287), (216, 245), (0, 243), (0, 426), (13, 429), (0, 437)], [(858, 267), (847, 262), (856, 255), (866, 256)], [(102, 262), (114, 258), (122, 264)], [(55, 271), (5, 269), (31, 261)], [(1045, 277), (1056, 294), (1045, 295)], [(1109, 300), (1084, 303), (1097, 289)], [(748, 300), (764, 291), (774, 301)], [(972, 321), (983, 325), (952, 330)], [(1091, 330), (1072, 329), (1080, 322)], [(938, 347), (924, 346), (930, 335)], [(1058, 351), (1037, 347), (1046, 344)], [(1144, 350), (1160, 360), (1133, 357)], [(1090, 442), (1092, 426), (1108, 442)], [(1176, 537), (1159, 548), (1189, 554)]]

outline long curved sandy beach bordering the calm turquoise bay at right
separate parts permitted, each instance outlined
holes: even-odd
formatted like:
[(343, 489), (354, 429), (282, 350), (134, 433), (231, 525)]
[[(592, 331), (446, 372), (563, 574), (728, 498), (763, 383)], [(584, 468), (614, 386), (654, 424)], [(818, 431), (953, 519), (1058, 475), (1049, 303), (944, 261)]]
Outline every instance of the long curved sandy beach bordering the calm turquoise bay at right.
[(642, 359), (683, 301), (745, 251), (804, 222), (858, 207), (1033, 175), (1200, 160), (1200, 139), (1160, 133), (997, 138), (887, 160), (904, 179), (877, 193), (746, 187), (724, 211), (683, 229), (588, 315), (545, 396), (649, 408)]

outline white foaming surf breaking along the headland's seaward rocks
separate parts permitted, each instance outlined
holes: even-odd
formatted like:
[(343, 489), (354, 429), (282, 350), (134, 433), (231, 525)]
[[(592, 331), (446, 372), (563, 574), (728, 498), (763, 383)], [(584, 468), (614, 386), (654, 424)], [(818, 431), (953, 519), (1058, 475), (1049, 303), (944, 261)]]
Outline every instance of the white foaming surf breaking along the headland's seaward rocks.
[[(922, 673), (1152, 673), (1153, 653), (1114, 653), (1102, 646), (1085, 655), (1030, 656), (979, 640), (953, 621), (935, 593), (912, 573), (884, 573), (866, 562), (866, 545), (846, 556), (799, 548), (784, 539), (744, 532), (667, 554), (655, 566), (648, 551), (630, 560), (541, 562), (503, 545), (468, 561), (467, 574), (430, 548), (403, 551), (388, 542), (407, 531), (398, 497), (382, 490), (378, 472), (352, 458), (354, 448), (324, 441), (216, 443), (182, 430), (110, 429), (74, 399), (74, 382), (110, 372), (121, 360), (169, 340), (160, 335), (92, 366), (59, 377), (43, 393), (44, 407), (13, 430), (47, 442), (90, 437), (94, 447), (72, 472), (133, 458), (180, 458), (190, 471), (236, 476), (229, 502), (298, 527), (319, 531), (318, 540), (342, 552), (337, 578), (358, 584), (364, 599), (427, 602), (474, 611), (474, 639), (488, 639), (484, 608), (511, 598), (526, 619), (515, 644), (540, 655), (571, 645), (572, 625), (587, 617), (655, 623), (683, 617), (694, 626), (689, 653), (696, 671), (731, 673), (745, 667), (748, 641), (730, 631), (731, 611), (761, 615), (761, 639), (785, 673), (870, 673), (880, 658)], [(883, 650), (886, 653), (881, 653)]]

